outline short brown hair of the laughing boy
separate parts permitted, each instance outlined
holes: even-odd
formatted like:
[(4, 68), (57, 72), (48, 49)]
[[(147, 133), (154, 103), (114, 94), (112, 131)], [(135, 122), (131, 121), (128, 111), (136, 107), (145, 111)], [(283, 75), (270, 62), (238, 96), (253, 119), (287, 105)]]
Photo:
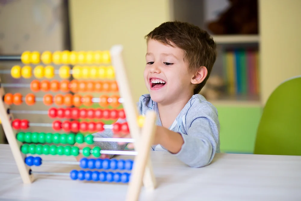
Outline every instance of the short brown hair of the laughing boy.
[(216, 43), (205, 30), (186, 22), (164, 22), (144, 38), (174, 47), (171, 44), (173, 43), (181, 48), (185, 53), (184, 61), (188, 61), (190, 72), (196, 72), (201, 66), (206, 67), (207, 77), (194, 88), (194, 94), (200, 92), (216, 60)]

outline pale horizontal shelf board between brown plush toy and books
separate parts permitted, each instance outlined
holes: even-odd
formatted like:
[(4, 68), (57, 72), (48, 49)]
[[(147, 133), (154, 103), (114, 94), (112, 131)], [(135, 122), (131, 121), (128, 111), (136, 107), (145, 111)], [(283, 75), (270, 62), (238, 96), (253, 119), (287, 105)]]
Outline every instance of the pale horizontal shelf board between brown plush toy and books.
[(212, 36), (216, 43), (257, 43), (260, 41), (258, 35), (225, 35)]

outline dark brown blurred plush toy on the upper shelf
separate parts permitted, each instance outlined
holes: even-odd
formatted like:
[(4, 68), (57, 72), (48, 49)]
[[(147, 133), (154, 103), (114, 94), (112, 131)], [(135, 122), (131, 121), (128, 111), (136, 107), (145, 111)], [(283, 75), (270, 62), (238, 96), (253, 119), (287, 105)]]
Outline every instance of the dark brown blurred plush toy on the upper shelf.
[(219, 19), (207, 24), (208, 29), (219, 34), (258, 34), (257, 0), (228, 0), (229, 8)]

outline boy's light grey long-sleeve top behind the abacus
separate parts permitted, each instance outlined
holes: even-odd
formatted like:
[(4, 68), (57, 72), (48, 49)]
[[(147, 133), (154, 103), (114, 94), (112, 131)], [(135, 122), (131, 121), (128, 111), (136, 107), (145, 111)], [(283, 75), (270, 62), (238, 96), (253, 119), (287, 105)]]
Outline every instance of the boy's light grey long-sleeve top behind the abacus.
[[(162, 126), (157, 102), (151, 99), (149, 94), (139, 98), (138, 111), (144, 115), (148, 110), (157, 113), (158, 126)], [(118, 120), (123, 122), (124, 120)], [(219, 130), (220, 124), (217, 109), (209, 103), (202, 95), (195, 94), (187, 102), (178, 114), (173, 124), (169, 127), (176, 133), (182, 135), (184, 144), (181, 150), (174, 154), (180, 161), (191, 167), (203, 167), (208, 165), (215, 153), (220, 152)], [(111, 130), (105, 130), (93, 134), (94, 137), (112, 137)], [(123, 150), (127, 144), (118, 145), (116, 142), (95, 142), (103, 150)], [(151, 146), (154, 151), (166, 151), (160, 145)], [(110, 158), (113, 155), (110, 155)]]

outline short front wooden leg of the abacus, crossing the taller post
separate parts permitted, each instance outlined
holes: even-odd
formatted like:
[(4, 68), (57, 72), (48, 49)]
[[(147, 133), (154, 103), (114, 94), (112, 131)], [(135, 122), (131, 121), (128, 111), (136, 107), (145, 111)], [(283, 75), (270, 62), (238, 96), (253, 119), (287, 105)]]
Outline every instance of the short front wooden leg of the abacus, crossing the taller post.
[[(139, 198), (143, 176), (150, 159), (150, 147), (156, 131), (156, 113), (149, 111), (145, 117), (142, 134), (139, 140), (139, 151), (134, 160), (132, 175), (126, 195), (126, 201), (136, 201)], [(146, 183), (146, 185), (149, 185)]]

